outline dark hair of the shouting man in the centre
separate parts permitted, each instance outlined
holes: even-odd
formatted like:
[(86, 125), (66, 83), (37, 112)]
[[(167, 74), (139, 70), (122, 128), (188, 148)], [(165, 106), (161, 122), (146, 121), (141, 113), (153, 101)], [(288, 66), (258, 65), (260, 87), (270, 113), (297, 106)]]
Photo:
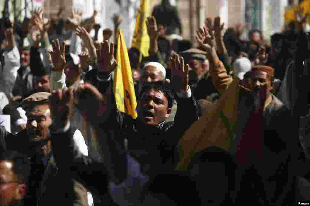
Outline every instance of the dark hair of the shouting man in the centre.
[(146, 84), (142, 87), (142, 90), (140, 92), (140, 96), (142, 96), (145, 92), (150, 91), (150, 90), (161, 91), (163, 93), (163, 95), (168, 100), (168, 108), (172, 108), (175, 97), (174, 97), (172, 90), (170, 89), (169, 83), (167, 83), (167, 82), (152, 82), (150, 84)]

